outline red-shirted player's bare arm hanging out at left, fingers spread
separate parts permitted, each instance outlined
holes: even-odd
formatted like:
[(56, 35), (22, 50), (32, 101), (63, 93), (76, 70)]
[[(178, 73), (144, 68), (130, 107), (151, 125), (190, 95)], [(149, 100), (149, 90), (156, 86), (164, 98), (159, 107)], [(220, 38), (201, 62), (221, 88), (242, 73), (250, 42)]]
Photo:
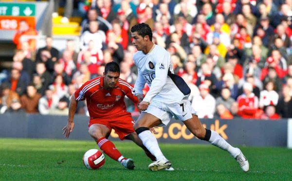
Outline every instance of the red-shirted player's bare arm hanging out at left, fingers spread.
[(63, 135), (65, 136), (65, 138), (69, 138), (70, 133), (73, 131), (74, 129), (74, 115), (77, 109), (77, 105), (78, 102), (75, 100), (74, 95), (71, 96), (70, 99), (70, 104), (69, 104), (69, 115), (68, 115), (68, 122), (67, 125), (62, 129)]

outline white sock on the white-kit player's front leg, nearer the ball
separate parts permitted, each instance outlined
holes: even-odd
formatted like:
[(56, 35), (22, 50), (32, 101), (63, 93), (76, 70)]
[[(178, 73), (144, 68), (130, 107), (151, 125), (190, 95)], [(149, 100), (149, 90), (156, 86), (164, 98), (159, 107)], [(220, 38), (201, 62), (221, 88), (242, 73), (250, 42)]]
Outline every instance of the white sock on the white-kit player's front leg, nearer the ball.
[(142, 140), (143, 145), (156, 157), (156, 160), (166, 159), (159, 148), (157, 139), (149, 130), (141, 132), (138, 136)]

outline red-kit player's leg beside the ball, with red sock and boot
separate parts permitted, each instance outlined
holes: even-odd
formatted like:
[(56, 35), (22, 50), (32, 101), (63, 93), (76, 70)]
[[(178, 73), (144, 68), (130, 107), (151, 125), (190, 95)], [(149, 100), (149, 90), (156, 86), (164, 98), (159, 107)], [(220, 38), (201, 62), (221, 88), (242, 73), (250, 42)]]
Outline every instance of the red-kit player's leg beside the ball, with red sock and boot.
[(125, 168), (134, 169), (135, 165), (133, 160), (123, 157), (115, 145), (106, 138), (110, 131), (111, 129), (109, 127), (101, 124), (92, 124), (88, 129), (91, 137), (96, 141), (98, 147), (105, 154), (107, 154), (113, 160), (121, 163), (123, 166), (125, 166)]

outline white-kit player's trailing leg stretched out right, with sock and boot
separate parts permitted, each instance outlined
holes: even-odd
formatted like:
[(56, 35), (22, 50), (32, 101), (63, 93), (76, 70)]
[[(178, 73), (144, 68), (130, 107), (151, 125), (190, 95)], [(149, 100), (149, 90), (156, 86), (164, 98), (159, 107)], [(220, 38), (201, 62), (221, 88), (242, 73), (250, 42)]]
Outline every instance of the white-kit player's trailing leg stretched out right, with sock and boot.
[(183, 123), (197, 138), (228, 151), (237, 160), (244, 172), (249, 170), (249, 163), (241, 150), (227, 143), (216, 131), (205, 129), (197, 115), (192, 114), (192, 118), (183, 121)]

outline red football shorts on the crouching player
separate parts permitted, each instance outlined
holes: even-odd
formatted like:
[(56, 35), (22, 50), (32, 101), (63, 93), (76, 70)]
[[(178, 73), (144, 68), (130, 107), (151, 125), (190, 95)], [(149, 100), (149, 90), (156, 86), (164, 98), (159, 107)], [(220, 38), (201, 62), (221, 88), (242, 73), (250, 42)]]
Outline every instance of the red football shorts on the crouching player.
[(123, 115), (116, 118), (91, 119), (89, 121), (88, 127), (93, 124), (104, 125), (110, 130), (114, 129), (115, 132), (119, 135), (120, 140), (125, 140), (125, 136), (131, 134), (132, 132), (135, 132), (133, 128), (135, 121), (133, 120), (131, 115)]

